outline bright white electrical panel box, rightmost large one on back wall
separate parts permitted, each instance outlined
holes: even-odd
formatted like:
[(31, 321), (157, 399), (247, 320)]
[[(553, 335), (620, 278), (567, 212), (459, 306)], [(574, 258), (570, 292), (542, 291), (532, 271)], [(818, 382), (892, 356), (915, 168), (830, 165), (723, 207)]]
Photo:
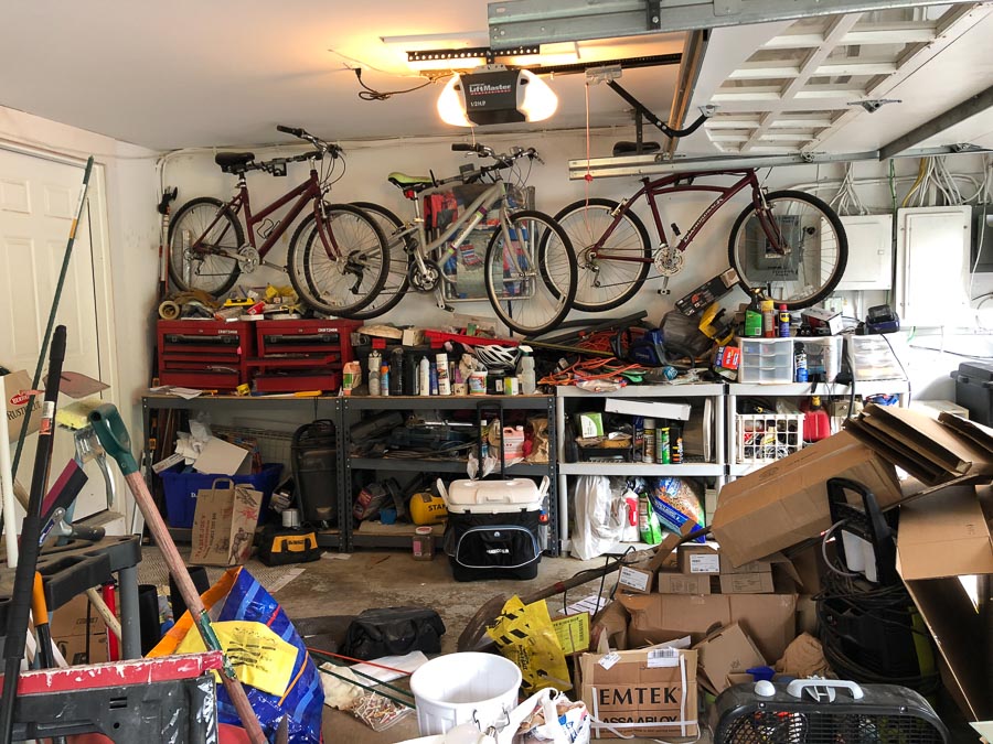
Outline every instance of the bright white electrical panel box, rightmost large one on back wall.
[(897, 313), (904, 326), (971, 322), (972, 207), (897, 211)]

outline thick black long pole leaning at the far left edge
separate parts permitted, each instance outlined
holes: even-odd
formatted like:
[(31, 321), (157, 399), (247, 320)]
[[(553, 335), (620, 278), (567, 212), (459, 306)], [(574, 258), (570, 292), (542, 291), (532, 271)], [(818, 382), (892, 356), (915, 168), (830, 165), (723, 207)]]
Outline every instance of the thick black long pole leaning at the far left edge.
[[(34, 455), (34, 471), (31, 476), (31, 492), (28, 497), (28, 514), (21, 527), (21, 556), (14, 572), (13, 592), (7, 619), (7, 640), (3, 658), (7, 664), (3, 675), (3, 693), (0, 697), (0, 742), (10, 744), (13, 736), (13, 712), (18, 698), (18, 677), (21, 658), (28, 640), (28, 615), (31, 611), (31, 595), (34, 587), (34, 571), (38, 568), (38, 538), (41, 532), (41, 505), (49, 483), (49, 467), (52, 463), (52, 444), (55, 432), (55, 403), (58, 398), (58, 380), (62, 378), (62, 363), (65, 359), (65, 326), (55, 328), (49, 356), (49, 380), (42, 405), (41, 428), (38, 432), (38, 452)], [(30, 410), (30, 409), (29, 409)], [(13, 520), (8, 525), (13, 530)]]

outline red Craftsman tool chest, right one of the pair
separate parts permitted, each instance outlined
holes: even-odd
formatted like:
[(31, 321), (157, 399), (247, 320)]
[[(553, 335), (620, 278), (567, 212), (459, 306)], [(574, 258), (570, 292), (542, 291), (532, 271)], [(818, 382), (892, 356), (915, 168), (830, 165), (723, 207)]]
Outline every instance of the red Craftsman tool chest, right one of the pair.
[(352, 332), (361, 325), (339, 319), (256, 322), (257, 355), (248, 360), (256, 391), (337, 391), (342, 367), (354, 359)]

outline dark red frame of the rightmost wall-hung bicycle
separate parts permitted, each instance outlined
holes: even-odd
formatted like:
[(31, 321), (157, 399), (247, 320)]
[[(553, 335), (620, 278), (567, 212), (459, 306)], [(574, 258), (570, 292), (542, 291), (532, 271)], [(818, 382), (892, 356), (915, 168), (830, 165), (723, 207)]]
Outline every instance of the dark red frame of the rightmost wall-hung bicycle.
[[(738, 181), (736, 181), (730, 186), (718, 186), (718, 185), (709, 185), (709, 184), (701, 184), (695, 185), (693, 181), (698, 177), (704, 176), (714, 176), (714, 175), (735, 175), (740, 176)], [(686, 181), (687, 183), (681, 183)], [(655, 230), (659, 235), (660, 245), (668, 245), (669, 238), (665, 234), (665, 227), (662, 224), (662, 215), (659, 211), (659, 204), (655, 201), (656, 197), (663, 196), (665, 194), (679, 194), (683, 192), (691, 191), (703, 191), (703, 192), (716, 192), (718, 194), (717, 198), (715, 198), (706, 209), (704, 209), (700, 217), (696, 218), (696, 222), (690, 227), (688, 230), (680, 238), (680, 241), (676, 244), (675, 248), (680, 252), (686, 250), (696, 235), (703, 229), (703, 226), (707, 224), (711, 217), (724, 206), (729, 200), (732, 200), (738, 192), (740, 192), (746, 186), (751, 186), (752, 202), (755, 206), (758, 208), (761, 206), (765, 201), (762, 198), (762, 190), (758, 182), (758, 176), (756, 175), (752, 169), (745, 169), (738, 171), (694, 171), (692, 173), (679, 173), (673, 175), (666, 175), (662, 179), (656, 179), (652, 181), (648, 176), (641, 180), (642, 186), (638, 190), (638, 192), (624, 201), (621, 204), (621, 208), (618, 209), (618, 213), (613, 217), (613, 222), (607, 226), (607, 229), (604, 231), (604, 235), (594, 244), (594, 246), (589, 249), (589, 256), (591, 258), (599, 257), (599, 250), (604, 247), (604, 242), (610, 235), (613, 233), (615, 228), (620, 224), (621, 218), (624, 216), (627, 212), (630, 211), (631, 205), (634, 204), (639, 198), (644, 196), (645, 201), (649, 204), (649, 207), (652, 212), (652, 220), (655, 225)], [(766, 233), (769, 233), (770, 227), (765, 225), (765, 220), (762, 220), (762, 227)], [(777, 238), (772, 235), (769, 235), (770, 240), (773, 245), (777, 242)], [(631, 261), (634, 263), (651, 263), (653, 259), (645, 258), (643, 256), (615, 256), (607, 255), (604, 258), (609, 259), (611, 261)]]

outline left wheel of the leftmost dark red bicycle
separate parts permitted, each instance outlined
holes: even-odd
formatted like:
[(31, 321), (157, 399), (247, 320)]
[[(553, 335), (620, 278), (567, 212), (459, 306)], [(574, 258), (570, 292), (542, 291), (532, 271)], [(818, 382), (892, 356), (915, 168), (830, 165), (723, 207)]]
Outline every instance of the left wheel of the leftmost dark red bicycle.
[(245, 233), (221, 200), (201, 196), (183, 204), (169, 224), (169, 277), (180, 291), (218, 296), (238, 279)]

